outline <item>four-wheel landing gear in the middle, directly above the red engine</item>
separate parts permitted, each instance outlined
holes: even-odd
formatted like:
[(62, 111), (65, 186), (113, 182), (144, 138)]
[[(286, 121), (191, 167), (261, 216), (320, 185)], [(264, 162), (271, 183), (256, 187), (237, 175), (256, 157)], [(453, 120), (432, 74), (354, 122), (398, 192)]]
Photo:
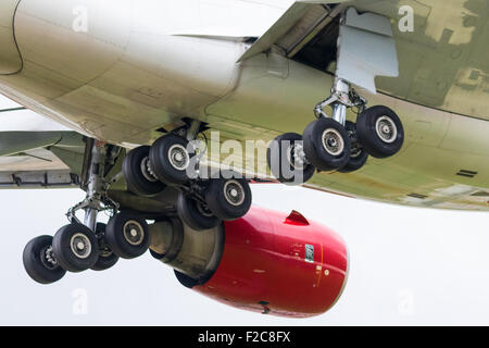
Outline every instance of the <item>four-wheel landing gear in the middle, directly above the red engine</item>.
[(191, 140), (200, 129), (201, 124), (193, 121), (188, 127), (164, 135), (151, 147), (134, 149), (123, 165), (124, 177), (135, 194), (152, 196), (166, 186), (176, 188), (178, 216), (196, 231), (243, 216), (252, 199), (248, 181), (238, 173), (221, 171), (211, 178), (199, 175), (203, 153), (197, 153)]

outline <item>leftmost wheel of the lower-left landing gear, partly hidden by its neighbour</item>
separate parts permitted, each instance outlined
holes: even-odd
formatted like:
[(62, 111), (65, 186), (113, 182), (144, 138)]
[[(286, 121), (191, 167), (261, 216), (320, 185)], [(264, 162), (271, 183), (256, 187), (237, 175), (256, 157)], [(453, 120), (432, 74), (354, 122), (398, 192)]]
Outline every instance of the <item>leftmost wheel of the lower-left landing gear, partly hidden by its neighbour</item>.
[(55, 283), (66, 274), (54, 260), (51, 245), (51, 236), (40, 236), (30, 240), (24, 248), (22, 260), (25, 271), (39, 284)]

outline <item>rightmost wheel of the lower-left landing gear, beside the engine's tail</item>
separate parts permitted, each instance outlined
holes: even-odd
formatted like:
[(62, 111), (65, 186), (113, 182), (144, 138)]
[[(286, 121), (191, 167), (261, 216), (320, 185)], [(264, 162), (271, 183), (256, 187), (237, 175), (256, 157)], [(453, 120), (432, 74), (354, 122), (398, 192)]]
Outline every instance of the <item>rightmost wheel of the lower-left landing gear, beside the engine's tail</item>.
[(109, 220), (105, 240), (117, 257), (135, 259), (148, 250), (151, 236), (148, 224), (140, 214), (122, 211)]

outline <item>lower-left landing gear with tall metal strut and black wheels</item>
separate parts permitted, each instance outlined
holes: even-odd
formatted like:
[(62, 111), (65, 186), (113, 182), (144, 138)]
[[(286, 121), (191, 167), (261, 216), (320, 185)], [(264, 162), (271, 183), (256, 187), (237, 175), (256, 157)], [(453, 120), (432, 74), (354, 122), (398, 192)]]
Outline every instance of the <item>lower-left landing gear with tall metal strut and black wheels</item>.
[[(85, 179), (82, 187), (87, 197), (70, 209), (70, 224), (53, 237), (40, 236), (24, 249), (23, 261), (27, 274), (40, 284), (60, 281), (66, 272), (103, 271), (120, 258), (134, 259), (145, 253), (150, 245), (148, 224), (137, 212), (120, 211), (118, 204), (108, 196), (110, 181), (106, 173), (114, 165), (121, 149), (87, 139), (84, 163)], [(137, 153), (140, 157), (140, 153)], [(134, 158), (129, 158), (129, 161)], [(142, 190), (155, 190), (162, 184), (151, 183)], [(82, 223), (76, 212), (85, 211)], [(109, 224), (97, 223), (97, 215), (109, 211)]]

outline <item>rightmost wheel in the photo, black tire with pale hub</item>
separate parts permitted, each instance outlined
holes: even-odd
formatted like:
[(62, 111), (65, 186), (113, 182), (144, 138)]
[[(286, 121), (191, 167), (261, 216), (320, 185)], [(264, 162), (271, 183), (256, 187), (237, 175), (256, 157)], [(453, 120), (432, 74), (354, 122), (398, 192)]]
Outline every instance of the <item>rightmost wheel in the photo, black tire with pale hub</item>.
[(391, 109), (377, 105), (363, 111), (356, 121), (360, 144), (375, 158), (391, 157), (404, 144), (404, 128)]

